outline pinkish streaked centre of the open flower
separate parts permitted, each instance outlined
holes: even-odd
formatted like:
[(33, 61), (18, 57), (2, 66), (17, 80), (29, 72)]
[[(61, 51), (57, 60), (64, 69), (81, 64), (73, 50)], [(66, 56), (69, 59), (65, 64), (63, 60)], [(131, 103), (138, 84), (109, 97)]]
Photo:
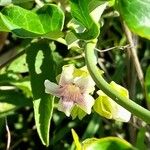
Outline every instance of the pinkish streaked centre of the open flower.
[(81, 89), (74, 84), (67, 84), (60, 89), (62, 99), (77, 102), (82, 98)]

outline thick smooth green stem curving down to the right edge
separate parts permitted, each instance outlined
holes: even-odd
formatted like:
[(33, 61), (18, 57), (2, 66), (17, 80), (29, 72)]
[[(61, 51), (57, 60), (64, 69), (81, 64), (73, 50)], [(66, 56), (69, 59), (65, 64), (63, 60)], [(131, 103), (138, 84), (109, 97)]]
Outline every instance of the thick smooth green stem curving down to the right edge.
[(85, 59), (88, 70), (93, 80), (96, 82), (97, 86), (116, 103), (120, 104), (122, 107), (126, 108), (135, 116), (141, 118), (143, 121), (150, 124), (150, 111), (136, 104), (131, 99), (128, 99), (122, 96), (121, 94), (117, 93), (117, 91), (112, 89), (112, 87), (104, 80), (104, 78), (102, 77), (102, 73), (96, 66), (97, 58), (94, 51), (95, 45), (96, 42), (88, 42), (86, 44)]

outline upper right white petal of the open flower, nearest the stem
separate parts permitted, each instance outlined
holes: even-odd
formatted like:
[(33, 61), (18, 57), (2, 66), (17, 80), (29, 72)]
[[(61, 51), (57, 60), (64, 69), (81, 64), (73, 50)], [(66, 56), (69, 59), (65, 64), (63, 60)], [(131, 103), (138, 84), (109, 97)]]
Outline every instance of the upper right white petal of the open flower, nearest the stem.
[(82, 92), (84, 93), (91, 93), (94, 91), (94, 86), (95, 86), (95, 82), (93, 81), (93, 79), (91, 78), (90, 75), (86, 76), (86, 77), (80, 77), (80, 78), (76, 78), (74, 80), (75, 85), (77, 85), (78, 87), (80, 87), (82, 89)]

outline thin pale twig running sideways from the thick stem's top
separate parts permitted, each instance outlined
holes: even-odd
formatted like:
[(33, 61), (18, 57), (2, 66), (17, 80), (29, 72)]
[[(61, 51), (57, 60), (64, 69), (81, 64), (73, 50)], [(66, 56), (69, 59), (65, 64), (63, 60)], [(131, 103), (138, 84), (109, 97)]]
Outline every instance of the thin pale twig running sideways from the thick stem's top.
[(126, 48), (131, 48), (131, 45), (128, 44), (128, 45), (125, 45), (125, 46), (114, 46), (114, 47), (110, 47), (110, 48), (103, 49), (103, 50), (95, 48), (95, 50), (100, 52), (100, 53), (103, 53), (103, 52), (108, 52), (108, 51), (113, 50), (113, 49), (125, 50)]

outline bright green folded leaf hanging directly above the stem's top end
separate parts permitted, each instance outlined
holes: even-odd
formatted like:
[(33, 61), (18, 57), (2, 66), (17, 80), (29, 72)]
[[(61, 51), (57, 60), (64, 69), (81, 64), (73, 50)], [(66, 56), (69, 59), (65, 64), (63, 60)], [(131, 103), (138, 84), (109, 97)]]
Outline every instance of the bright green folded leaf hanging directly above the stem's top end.
[(83, 33), (76, 36), (85, 40), (95, 39), (99, 35), (99, 25), (90, 16), (89, 2), (89, 0), (70, 0), (72, 16), (86, 28)]

